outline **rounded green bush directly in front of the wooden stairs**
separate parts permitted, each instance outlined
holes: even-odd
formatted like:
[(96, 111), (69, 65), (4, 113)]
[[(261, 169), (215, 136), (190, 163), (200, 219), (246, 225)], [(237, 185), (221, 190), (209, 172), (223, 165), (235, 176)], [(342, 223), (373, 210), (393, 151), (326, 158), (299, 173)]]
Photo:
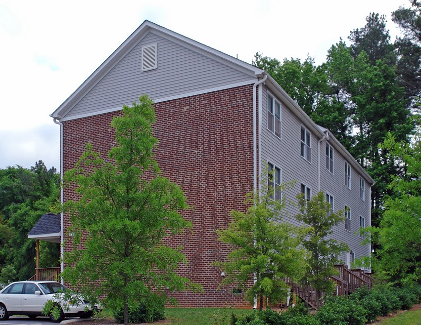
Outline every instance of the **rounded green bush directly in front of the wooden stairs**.
[(321, 324), (364, 325), (366, 310), (357, 300), (346, 297), (328, 297), (325, 305), (316, 313)]

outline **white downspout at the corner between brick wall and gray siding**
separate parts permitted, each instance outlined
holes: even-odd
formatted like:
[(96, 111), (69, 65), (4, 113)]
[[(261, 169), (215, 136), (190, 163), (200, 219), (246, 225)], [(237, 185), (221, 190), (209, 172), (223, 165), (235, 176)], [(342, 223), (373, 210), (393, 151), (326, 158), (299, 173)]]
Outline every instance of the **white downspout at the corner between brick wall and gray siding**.
[[(256, 113), (256, 97), (257, 97), (257, 93), (256, 93), (256, 87), (259, 86), (259, 158), (260, 158), (260, 113), (261, 113), (261, 108), (262, 108), (262, 88), (261, 88), (261, 84), (263, 82), (266, 81), (266, 79), (268, 78), (267, 75), (265, 75), (263, 77), (262, 80), (258, 80), (253, 84), (253, 189), (254, 191), (257, 190), (257, 113)], [(260, 161), (260, 160), (259, 160)], [(260, 172), (260, 166), (259, 166), (259, 172)], [(259, 185), (260, 186), (260, 185)], [(254, 275), (254, 283), (256, 284), (256, 275)], [(254, 306), (253, 309), (257, 308), (257, 298), (254, 298)]]

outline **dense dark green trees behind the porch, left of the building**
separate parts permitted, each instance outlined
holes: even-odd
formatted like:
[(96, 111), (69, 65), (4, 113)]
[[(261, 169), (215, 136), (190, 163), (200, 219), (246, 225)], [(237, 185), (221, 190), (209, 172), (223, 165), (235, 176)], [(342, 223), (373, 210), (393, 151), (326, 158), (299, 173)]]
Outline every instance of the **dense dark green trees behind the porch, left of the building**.
[[(0, 169), (0, 193), (0, 268), (6, 267), (7, 281), (28, 280), (35, 273), (36, 256), (28, 232), (43, 214), (57, 211), (59, 175), (42, 161), (30, 169), (9, 166)], [(58, 266), (58, 244), (42, 247), (40, 267)]]

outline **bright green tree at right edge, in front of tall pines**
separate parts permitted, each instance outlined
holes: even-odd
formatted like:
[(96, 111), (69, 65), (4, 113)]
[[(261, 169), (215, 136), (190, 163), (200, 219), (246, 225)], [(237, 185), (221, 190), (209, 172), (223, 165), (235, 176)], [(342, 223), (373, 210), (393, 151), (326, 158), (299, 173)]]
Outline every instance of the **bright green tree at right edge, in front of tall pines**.
[(421, 133), (411, 144), (389, 134), (380, 148), (405, 172), (392, 178), (389, 188), (394, 196), (385, 202), (379, 227), (370, 229), (381, 247), (373, 265), (385, 280), (421, 283)]

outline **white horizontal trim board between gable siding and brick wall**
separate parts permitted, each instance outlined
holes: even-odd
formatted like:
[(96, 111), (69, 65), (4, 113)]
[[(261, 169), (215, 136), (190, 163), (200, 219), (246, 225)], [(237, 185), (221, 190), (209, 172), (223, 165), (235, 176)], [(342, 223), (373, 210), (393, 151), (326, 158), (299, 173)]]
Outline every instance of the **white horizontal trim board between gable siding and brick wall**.
[[(151, 99), (153, 100), (154, 103), (160, 103), (160, 102), (166, 102), (168, 100), (180, 99), (180, 98), (205, 94), (205, 93), (208, 93), (208, 92), (225, 90), (225, 89), (230, 89), (230, 88), (234, 88), (234, 87), (240, 87), (240, 86), (244, 86), (244, 85), (247, 85), (247, 84), (253, 84), (254, 82), (256, 82), (256, 80), (251, 79), (249, 81), (242, 81), (242, 82), (238, 82), (238, 83), (227, 84), (227, 85), (223, 85), (223, 86), (219, 86), (219, 87), (215, 87), (215, 88), (201, 89), (201, 90), (197, 90), (197, 91), (193, 91), (193, 92), (187, 92), (187, 93), (183, 93), (183, 94), (179, 94), (179, 95), (157, 98), (157, 99), (151, 98)], [(131, 103), (127, 103), (127, 105), (130, 105), (130, 104)], [(100, 115), (100, 114), (105, 114), (105, 113), (117, 112), (117, 111), (121, 111), (122, 109), (123, 109), (123, 107), (119, 106), (119, 107), (108, 108), (106, 110), (100, 110), (100, 111), (86, 113), (86, 114), (74, 115), (74, 116), (62, 118), (60, 120), (60, 122), (71, 121), (71, 120), (82, 119), (82, 118), (88, 118), (90, 116), (95, 116), (95, 115)]]

